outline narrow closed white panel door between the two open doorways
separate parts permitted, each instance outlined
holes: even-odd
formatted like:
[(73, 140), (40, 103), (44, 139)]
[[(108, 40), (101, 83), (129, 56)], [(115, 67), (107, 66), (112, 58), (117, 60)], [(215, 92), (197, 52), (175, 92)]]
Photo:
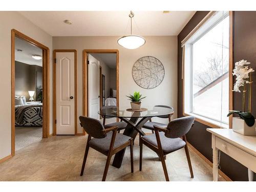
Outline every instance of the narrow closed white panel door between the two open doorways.
[(74, 52), (56, 53), (56, 134), (75, 134)]

